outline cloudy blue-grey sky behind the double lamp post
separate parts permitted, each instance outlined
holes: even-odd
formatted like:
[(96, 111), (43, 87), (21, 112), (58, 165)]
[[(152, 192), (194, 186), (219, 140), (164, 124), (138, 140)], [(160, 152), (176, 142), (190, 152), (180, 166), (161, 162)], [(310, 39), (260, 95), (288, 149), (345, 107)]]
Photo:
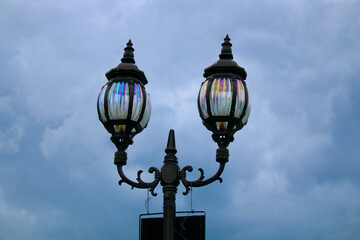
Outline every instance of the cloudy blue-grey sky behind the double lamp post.
[(207, 239), (360, 239), (359, 12), (356, 0), (0, 0), (0, 239), (138, 238), (147, 192), (117, 185), (96, 110), (130, 38), (153, 112), (126, 173), (160, 167), (173, 128), (179, 164), (213, 174), (196, 99), (226, 34), (253, 107), (224, 182), (193, 191)]

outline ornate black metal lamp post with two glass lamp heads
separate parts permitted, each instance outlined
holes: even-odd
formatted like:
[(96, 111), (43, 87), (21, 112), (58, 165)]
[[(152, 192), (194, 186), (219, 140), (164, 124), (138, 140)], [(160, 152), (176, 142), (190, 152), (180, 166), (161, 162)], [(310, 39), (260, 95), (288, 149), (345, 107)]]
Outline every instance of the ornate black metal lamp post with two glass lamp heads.
[(204, 180), (204, 171), (199, 168), (200, 177), (195, 181), (186, 179), (186, 172), (192, 172), (191, 166), (180, 169), (176, 157), (175, 133), (170, 130), (165, 158), (161, 170), (150, 167), (149, 173), (154, 173), (152, 182), (141, 179), (142, 170), (138, 171), (136, 181), (127, 178), (123, 167), (127, 163), (125, 150), (133, 143), (133, 137), (140, 133), (148, 124), (151, 114), (150, 97), (145, 91), (148, 83), (144, 72), (138, 69), (134, 60), (134, 49), (129, 40), (124, 49), (121, 63), (108, 71), (108, 82), (102, 87), (98, 97), (99, 119), (111, 133), (111, 141), (115, 144), (114, 164), (117, 166), (121, 180), (132, 188), (149, 189), (153, 196), (157, 185), (162, 185), (164, 193), (163, 218), (164, 239), (175, 240), (176, 193), (180, 182), (185, 186), (184, 195), (190, 187), (202, 187), (216, 180), (222, 182), (221, 174), (229, 161), (230, 142), (234, 133), (247, 123), (251, 105), (246, 87), (246, 71), (233, 61), (230, 38), (226, 35), (222, 44), (220, 59), (206, 68), (198, 95), (198, 109), (203, 124), (213, 132), (212, 138), (218, 144), (216, 161), (218, 171)]

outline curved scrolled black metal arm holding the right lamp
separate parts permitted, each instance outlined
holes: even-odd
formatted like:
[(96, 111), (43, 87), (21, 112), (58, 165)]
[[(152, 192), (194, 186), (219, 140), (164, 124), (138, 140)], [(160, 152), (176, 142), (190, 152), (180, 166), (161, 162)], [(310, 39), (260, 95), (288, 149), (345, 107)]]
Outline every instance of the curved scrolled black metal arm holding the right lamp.
[(218, 171), (214, 174), (214, 176), (212, 176), (211, 178), (208, 178), (206, 180), (204, 180), (205, 176), (204, 176), (204, 170), (202, 168), (199, 168), (200, 177), (195, 181), (188, 181), (186, 179), (186, 171), (192, 172), (193, 171), (192, 166), (188, 165), (188, 166), (185, 166), (183, 169), (181, 169), (180, 180), (186, 189), (186, 191), (183, 192), (184, 195), (187, 195), (189, 193), (190, 187), (205, 186), (216, 180), (219, 180), (220, 183), (222, 182), (222, 178), (220, 177), (220, 175), (224, 171), (225, 164), (229, 161), (229, 150), (226, 148), (218, 148), (216, 150), (216, 161), (220, 163)]

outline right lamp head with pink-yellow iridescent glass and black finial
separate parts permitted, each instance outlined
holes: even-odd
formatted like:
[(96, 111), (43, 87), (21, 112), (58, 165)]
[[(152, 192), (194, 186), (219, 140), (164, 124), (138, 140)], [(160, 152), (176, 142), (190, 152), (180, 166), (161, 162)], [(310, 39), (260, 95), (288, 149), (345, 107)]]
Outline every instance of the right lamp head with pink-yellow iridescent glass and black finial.
[(250, 111), (250, 97), (246, 87), (244, 68), (233, 61), (229, 35), (222, 44), (220, 59), (205, 68), (198, 108), (203, 124), (213, 132), (212, 138), (225, 148), (234, 140), (236, 131), (246, 125)]

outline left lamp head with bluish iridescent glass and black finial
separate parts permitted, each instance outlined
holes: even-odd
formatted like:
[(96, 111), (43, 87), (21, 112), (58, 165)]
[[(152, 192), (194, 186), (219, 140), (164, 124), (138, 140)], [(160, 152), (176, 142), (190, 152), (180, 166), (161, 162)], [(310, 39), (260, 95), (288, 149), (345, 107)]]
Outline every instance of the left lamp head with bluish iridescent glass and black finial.
[(132, 45), (129, 40), (121, 63), (105, 74), (108, 82), (97, 102), (100, 121), (112, 134), (111, 141), (122, 151), (146, 128), (151, 115), (150, 97), (144, 87), (147, 79), (135, 65)]

